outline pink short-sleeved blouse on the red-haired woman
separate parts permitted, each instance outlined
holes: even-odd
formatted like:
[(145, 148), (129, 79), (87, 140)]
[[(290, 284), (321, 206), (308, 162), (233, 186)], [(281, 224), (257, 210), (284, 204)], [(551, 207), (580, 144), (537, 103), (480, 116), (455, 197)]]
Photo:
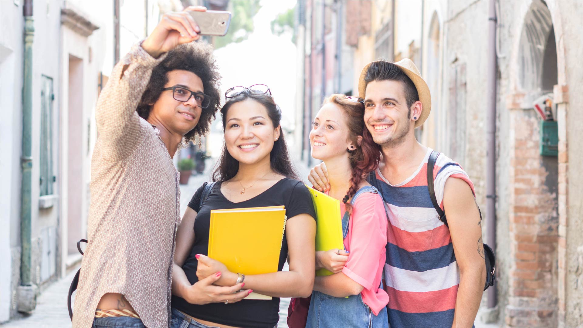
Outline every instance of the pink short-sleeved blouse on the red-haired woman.
[[(344, 247), (350, 251), (342, 273), (364, 287), (360, 292), (364, 304), (374, 315), (387, 306), (389, 295), (380, 287), (387, 246), (387, 214), (377, 193), (365, 192), (352, 204), (352, 214)], [(340, 203), (344, 216), (346, 206)]]

